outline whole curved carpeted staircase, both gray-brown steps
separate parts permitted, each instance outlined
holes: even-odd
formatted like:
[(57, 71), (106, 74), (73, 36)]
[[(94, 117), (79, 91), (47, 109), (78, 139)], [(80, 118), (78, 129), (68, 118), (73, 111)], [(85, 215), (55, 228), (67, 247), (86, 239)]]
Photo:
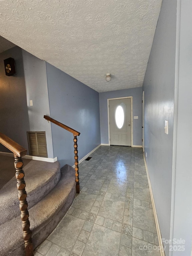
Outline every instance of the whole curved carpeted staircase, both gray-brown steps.
[[(30, 161), (23, 167), (34, 249), (55, 229), (76, 195), (75, 170), (58, 161)], [(18, 190), (13, 177), (0, 189), (0, 256), (24, 256)]]

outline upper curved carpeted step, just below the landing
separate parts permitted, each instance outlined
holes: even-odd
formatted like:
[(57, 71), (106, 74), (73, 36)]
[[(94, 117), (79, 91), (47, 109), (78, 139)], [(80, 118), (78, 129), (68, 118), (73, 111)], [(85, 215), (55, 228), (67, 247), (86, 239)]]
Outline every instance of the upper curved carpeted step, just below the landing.
[[(60, 179), (58, 161), (49, 163), (32, 160), (23, 166), (28, 209), (43, 198)], [(0, 190), (0, 224), (20, 215), (16, 178), (13, 177)], [(7, 200), (8, 198), (8, 200)]]

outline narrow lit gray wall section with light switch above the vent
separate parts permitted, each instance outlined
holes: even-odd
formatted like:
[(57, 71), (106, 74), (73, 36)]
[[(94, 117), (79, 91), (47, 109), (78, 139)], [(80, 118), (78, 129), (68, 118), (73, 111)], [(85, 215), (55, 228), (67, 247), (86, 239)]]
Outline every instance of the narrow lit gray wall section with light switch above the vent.
[[(45, 131), (47, 154), (53, 158), (51, 126), (43, 117), (49, 116), (49, 101), (46, 82), (45, 62), (22, 50), (29, 115), (28, 131)], [(30, 106), (30, 100), (33, 106)]]

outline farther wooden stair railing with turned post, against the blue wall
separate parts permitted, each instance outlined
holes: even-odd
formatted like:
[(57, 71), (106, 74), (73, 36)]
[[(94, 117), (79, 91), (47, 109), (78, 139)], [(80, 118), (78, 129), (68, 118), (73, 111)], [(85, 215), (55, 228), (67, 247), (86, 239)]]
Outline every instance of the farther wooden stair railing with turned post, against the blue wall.
[(52, 119), (50, 116), (44, 116), (44, 119), (47, 121), (50, 121), (54, 123), (55, 125), (60, 126), (61, 128), (64, 128), (67, 131), (70, 131), (73, 134), (73, 142), (74, 142), (74, 154), (75, 154), (75, 181), (76, 181), (76, 193), (80, 193), (80, 186), (79, 186), (79, 162), (78, 162), (78, 150), (77, 150), (77, 136), (80, 135), (80, 132), (68, 127), (67, 125), (64, 125), (55, 119)]

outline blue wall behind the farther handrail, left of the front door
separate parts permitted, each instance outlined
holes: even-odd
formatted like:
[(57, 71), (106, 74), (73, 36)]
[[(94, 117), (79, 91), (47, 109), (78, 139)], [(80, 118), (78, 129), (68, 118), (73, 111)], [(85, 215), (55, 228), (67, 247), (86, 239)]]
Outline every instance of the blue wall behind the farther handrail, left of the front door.
[[(79, 131), (79, 159), (101, 143), (99, 93), (46, 63), (50, 116)], [(74, 164), (73, 134), (51, 124), (54, 157)]]

